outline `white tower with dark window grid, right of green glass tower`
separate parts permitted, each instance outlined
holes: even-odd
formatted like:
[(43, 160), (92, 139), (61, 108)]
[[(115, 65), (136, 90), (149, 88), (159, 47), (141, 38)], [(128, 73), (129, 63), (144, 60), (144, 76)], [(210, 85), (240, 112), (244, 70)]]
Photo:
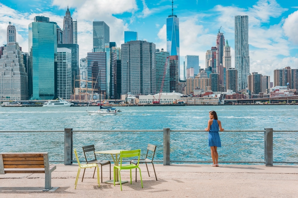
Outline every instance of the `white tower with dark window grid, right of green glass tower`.
[(57, 95), (69, 100), (72, 94), (72, 50), (57, 48)]

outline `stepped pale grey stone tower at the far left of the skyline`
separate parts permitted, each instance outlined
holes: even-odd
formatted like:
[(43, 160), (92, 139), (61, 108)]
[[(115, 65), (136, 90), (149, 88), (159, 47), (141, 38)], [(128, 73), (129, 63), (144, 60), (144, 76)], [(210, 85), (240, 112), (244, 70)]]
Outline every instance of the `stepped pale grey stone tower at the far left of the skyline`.
[(28, 97), (28, 79), (22, 52), (16, 42), (14, 25), (7, 27), (7, 44), (0, 59), (0, 99), (26, 100)]

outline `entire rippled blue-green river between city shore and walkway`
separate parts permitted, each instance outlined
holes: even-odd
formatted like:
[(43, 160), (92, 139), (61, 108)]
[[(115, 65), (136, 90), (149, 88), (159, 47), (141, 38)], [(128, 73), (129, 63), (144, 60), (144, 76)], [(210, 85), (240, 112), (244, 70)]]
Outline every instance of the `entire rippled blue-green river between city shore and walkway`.
[[(97, 110), (89, 107), (88, 110)], [(297, 130), (298, 105), (225, 105), (119, 107), (118, 115), (92, 115), (86, 107), (0, 107), (0, 131), (31, 130), (204, 130), (209, 111), (215, 110), (225, 130)], [(263, 132), (221, 132), (220, 160), (263, 161)], [(63, 160), (63, 133), (0, 133), (0, 152), (49, 152), (51, 160)], [(99, 150), (146, 151), (157, 145), (162, 160), (162, 132), (74, 133), (74, 148), (94, 144)], [(274, 133), (274, 161), (298, 159), (297, 133)], [(172, 132), (171, 160), (210, 160), (208, 133)], [(80, 149), (81, 150), (81, 149)], [(81, 152), (78, 150), (79, 152)], [(83, 155), (81, 156), (83, 159)]]

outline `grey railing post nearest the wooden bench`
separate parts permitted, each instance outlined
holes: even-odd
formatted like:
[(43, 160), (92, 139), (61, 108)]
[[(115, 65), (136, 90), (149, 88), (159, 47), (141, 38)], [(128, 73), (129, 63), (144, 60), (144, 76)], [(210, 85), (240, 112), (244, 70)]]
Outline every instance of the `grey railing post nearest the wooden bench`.
[(64, 129), (64, 165), (72, 165), (72, 128)]

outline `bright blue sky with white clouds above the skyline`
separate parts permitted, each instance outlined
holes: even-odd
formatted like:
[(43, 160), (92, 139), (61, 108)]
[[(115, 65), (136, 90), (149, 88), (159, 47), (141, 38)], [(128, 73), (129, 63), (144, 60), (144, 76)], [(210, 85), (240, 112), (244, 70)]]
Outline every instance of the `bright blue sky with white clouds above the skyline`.
[[(28, 51), (28, 24), (34, 16), (47, 16), (62, 28), (69, 6), (78, 21), (80, 58), (92, 49), (92, 22), (105, 21), (110, 41), (121, 47), (124, 31), (137, 31), (139, 40), (166, 50), (166, 18), (171, 0), (0, 0), (0, 42), (6, 44), (8, 22), (17, 30), (17, 42)], [(249, 16), (250, 72), (271, 76), (286, 66), (298, 68), (298, 1), (293, 0), (174, 0), (180, 24), (180, 64), (185, 55), (199, 55), (205, 68), (205, 53), (215, 46), (218, 29), (231, 46), (234, 67), (234, 17)], [(182, 69), (182, 67), (181, 67)]]

